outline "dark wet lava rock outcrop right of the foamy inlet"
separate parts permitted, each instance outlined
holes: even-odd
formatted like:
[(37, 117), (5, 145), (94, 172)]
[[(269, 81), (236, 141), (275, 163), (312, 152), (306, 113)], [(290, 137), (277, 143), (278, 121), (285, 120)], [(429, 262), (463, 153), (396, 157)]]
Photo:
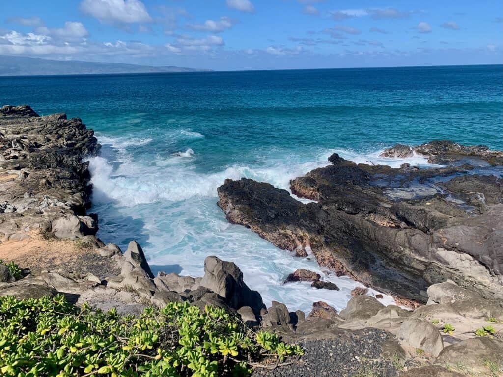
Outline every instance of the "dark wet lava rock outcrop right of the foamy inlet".
[(291, 181), (292, 193), (251, 179), (226, 180), (218, 205), (233, 224), (274, 245), (400, 299), (426, 303), (428, 286), (451, 279), (482, 297), (503, 299), (503, 152), (432, 142), (397, 146), (440, 168), (331, 165)]

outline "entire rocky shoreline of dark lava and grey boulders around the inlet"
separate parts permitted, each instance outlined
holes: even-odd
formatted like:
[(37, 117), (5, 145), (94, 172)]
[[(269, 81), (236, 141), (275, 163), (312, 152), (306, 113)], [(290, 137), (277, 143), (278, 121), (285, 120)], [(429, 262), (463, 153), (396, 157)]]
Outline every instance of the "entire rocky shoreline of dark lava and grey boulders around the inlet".
[[(483, 161), (489, 169), (501, 165), (503, 154), (447, 146), (415, 150), (430, 153), (435, 163), (453, 164), (435, 171), (362, 166), (332, 155), (332, 165), (292, 181), (293, 192), (317, 202), (307, 205), (249, 179), (227, 180), (219, 188), (219, 206), (229, 221), (298, 255), (312, 252), (334, 273), (428, 304), (413, 311), (385, 307), (360, 290), (340, 313), (317, 302), (306, 316), (281, 303), (266, 308), (239, 267), (215, 256), (206, 258), (203, 277), (154, 276), (135, 241), (124, 252), (105, 245), (96, 237), (98, 216), (86, 212), (92, 187), (82, 160), (100, 149), (93, 131), (64, 114), (39, 117), (29, 106), (4, 106), (0, 259), (18, 263), (24, 276), (16, 279), (0, 263), (0, 296), (63, 293), (76, 305), (130, 314), (169, 302), (212, 305), (304, 347), (298, 362), (256, 368), (254, 375), (321, 376), (336, 370), (341, 376), (501, 375), (501, 179), (482, 175), (481, 167), (469, 167), (465, 159)], [(397, 146), (385, 153), (410, 151)], [(475, 169), (476, 174), (464, 174)], [(443, 180), (432, 184), (445, 190), (442, 195), (391, 199), (402, 195), (404, 182), (421, 186), (438, 176)], [(463, 211), (454, 205), (459, 198)], [(402, 244), (407, 247), (399, 248)], [(292, 271), (289, 278), (337, 289), (308, 270)]]

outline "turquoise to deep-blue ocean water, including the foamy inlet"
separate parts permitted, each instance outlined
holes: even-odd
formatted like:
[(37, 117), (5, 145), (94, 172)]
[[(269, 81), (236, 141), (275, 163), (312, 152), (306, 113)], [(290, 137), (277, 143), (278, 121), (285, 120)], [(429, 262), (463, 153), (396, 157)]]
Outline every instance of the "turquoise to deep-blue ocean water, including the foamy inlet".
[(282, 285), (296, 268), (319, 267), (228, 224), (216, 206), (225, 178), (288, 189), (333, 151), (399, 165), (377, 157), (398, 142), (503, 149), (503, 65), (0, 77), (0, 103), (65, 112), (96, 130), (104, 241), (137, 239), (154, 269), (182, 274), (201, 275), (206, 255), (234, 260), (266, 302), (292, 310), (318, 300), (341, 309), (357, 284), (320, 271), (341, 291)]

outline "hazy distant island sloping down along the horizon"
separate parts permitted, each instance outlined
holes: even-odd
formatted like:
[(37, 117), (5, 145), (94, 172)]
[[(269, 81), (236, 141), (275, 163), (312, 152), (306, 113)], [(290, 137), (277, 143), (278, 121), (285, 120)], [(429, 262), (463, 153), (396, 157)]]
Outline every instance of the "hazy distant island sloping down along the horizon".
[(52, 74), (99, 74), (99, 73), (151, 73), (210, 71), (176, 67), (154, 67), (124, 63), (94, 63), (88, 61), (58, 61), (0, 55), (0, 76), (52, 75)]

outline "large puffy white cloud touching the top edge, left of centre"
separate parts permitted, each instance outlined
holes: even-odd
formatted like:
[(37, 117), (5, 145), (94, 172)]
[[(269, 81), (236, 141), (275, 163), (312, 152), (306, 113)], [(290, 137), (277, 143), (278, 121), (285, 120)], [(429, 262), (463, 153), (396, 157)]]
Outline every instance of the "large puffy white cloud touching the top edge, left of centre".
[(139, 0), (83, 0), (80, 10), (101, 22), (132, 24), (152, 21)]

